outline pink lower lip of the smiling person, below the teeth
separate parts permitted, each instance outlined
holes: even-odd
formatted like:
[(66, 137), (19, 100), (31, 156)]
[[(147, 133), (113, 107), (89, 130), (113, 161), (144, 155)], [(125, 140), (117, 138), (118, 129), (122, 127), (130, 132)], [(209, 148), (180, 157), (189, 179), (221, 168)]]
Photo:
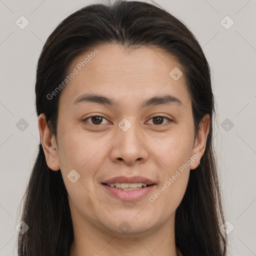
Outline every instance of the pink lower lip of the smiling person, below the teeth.
[(142, 198), (144, 195), (148, 194), (155, 186), (155, 184), (152, 184), (150, 186), (146, 186), (144, 188), (137, 189), (137, 190), (121, 190), (116, 187), (111, 187), (111, 186), (104, 185), (104, 184), (102, 184), (102, 185), (106, 188), (106, 190), (111, 195), (113, 195), (114, 197), (116, 197), (118, 199), (125, 200), (125, 201), (138, 200), (138, 199)]

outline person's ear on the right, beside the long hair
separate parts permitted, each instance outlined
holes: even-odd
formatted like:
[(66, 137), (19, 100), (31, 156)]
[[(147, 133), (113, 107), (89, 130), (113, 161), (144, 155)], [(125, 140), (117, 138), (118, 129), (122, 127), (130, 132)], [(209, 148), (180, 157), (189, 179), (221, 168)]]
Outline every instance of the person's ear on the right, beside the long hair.
[(192, 155), (191, 157), (194, 159), (194, 155), (198, 155), (197, 159), (190, 164), (190, 169), (195, 169), (199, 165), (199, 160), (202, 157), (205, 146), (206, 140), (209, 133), (209, 121), (210, 116), (209, 114), (205, 114), (200, 122), (199, 131), (197, 137), (195, 138)]

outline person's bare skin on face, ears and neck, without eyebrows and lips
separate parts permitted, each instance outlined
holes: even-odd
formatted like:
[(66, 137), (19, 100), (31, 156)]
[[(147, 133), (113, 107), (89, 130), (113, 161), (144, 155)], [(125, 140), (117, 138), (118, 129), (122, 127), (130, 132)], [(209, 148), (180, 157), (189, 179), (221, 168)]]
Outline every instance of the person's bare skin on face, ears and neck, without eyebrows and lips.
[[(94, 49), (94, 48), (93, 48)], [(93, 51), (74, 59), (70, 70)], [(40, 140), (47, 165), (61, 170), (68, 191), (74, 228), (70, 255), (179, 256), (175, 247), (175, 210), (184, 195), (189, 171), (198, 166), (209, 131), (209, 115), (201, 122), (194, 140), (191, 100), (184, 75), (174, 80), (169, 72), (182, 66), (162, 50), (138, 47), (125, 51), (119, 45), (97, 47), (98, 53), (62, 89), (59, 99), (57, 139), (38, 117)], [(118, 105), (95, 102), (73, 104), (83, 93), (113, 98)], [(182, 102), (140, 108), (153, 96), (171, 94)], [(52, 99), (54, 100), (54, 98)], [(104, 117), (102, 124), (89, 118)], [(170, 118), (155, 121), (154, 116)], [(123, 131), (118, 123), (126, 118), (131, 127)], [(167, 124), (167, 125), (164, 125)], [(179, 166), (200, 153), (190, 167), (157, 198), (156, 193)], [(72, 183), (67, 174), (75, 169), (80, 178)], [(142, 175), (156, 183), (150, 194), (124, 201), (111, 196), (103, 180)], [(126, 221), (130, 229), (118, 226)], [(151, 255), (151, 254), (150, 254)]]

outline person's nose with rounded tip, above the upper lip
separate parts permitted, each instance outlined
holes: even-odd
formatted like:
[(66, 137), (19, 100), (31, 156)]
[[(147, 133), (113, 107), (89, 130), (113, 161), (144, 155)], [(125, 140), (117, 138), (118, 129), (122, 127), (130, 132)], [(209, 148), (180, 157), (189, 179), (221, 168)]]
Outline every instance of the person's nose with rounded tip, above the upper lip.
[(135, 124), (123, 131), (117, 127), (110, 158), (113, 162), (123, 162), (126, 165), (143, 163), (148, 159), (149, 148), (142, 132), (135, 129)]

